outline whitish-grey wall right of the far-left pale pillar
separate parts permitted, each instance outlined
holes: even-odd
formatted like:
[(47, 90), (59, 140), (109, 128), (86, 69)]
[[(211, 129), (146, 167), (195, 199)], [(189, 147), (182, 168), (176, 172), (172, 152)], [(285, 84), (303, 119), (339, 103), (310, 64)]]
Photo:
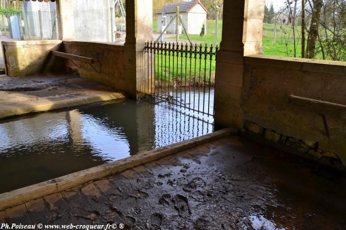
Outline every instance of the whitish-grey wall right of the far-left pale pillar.
[[(76, 40), (111, 42), (110, 7), (113, 0), (74, 0)], [(114, 10), (114, 9), (113, 9)], [(114, 22), (113, 22), (114, 23)], [(113, 31), (115, 27), (113, 27)]]

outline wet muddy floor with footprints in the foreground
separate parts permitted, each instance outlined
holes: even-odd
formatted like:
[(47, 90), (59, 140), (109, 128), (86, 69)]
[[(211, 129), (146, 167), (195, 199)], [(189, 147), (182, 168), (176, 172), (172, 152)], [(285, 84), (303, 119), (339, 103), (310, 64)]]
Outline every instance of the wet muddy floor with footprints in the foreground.
[(345, 229), (345, 173), (229, 136), (0, 212), (0, 223)]

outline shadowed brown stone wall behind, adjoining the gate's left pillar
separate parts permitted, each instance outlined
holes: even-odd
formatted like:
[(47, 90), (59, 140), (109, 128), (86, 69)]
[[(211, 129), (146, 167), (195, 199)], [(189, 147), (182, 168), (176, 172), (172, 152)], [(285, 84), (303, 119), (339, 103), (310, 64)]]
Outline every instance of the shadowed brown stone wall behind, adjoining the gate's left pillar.
[(95, 61), (89, 65), (65, 59), (68, 71), (126, 92), (135, 87), (127, 79), (124, 45), (83, 41), (64, 41), (63, 44), (65, 53), (92, 58)]

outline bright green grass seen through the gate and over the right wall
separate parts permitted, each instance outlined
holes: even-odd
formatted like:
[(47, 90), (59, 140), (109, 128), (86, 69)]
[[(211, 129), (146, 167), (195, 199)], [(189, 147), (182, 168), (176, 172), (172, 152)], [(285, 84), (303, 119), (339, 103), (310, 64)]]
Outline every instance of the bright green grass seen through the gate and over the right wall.
[[(157, 22), (153, 23), (153, 30), (157, 30)], [(221, 33), (222, 33), (222, 21), (218, 22), (218, 45), (221, 41)], [(263, 37), (262, 37), (262, 43), (263, 43), (263, 52), (265, 55), (271, 55), (271, 56), (280, 56), (280, 57), (294, 57), (294, 36), (293, 36), (293, 30), (292, 28), (288, 26), (283, 27), (283, 31), (281, 33), (280, 25), (277, 25), (277, 31), (276, 31), (276, 43), (273, 43), (273, 35), (274, 35), (274, 25), (273, 24), (263, 24)], [(296, 29), (296, 57), (301, 57), (301, 27), (297, 27)], [(207, 35), (200, 36), (196, 34), (190, 35), (190, 38), (193, 42), (193, 44), (207, 44), (210, 46), (211, 44), (215, 43), (215, 21), (214, 20), (208, 20), (207, 22)], [(166, 38), (167, 42), (174, 42), (175, 36), (172, 35), (171, 37)], [(188, 38), (186, 35), (180, 35), (179, 41), (182, 43), (188, 43)], [(185, 59), (182, 60), (182, 69), (183, 73), (181, 74), (181, 64), (180, 64), (180, 58), (179, 58), (179, 65), (178, 65), (178, 71), (176, 71), (176, 57), (175, 57), (175, 69), (173, 72), (173, 60), (171, 58), (171, 68), (169, 69), (169, 62), (167, 61), (167, 66), (163, 66), (163, 70), (161, 71), (161, 55), (158, 55), (159, 61), (156, 60), (156, 65), (159, 63), (159, 68), (157, 68), (155, 72), (156, 79), (160, 79), (161, 82), (165, 82), (165, 69), (166, 69), (166, 82), (170, 81), (170, 84), (174, 85), (184, 85), (185, 84)], [(163, 56), (163, 65), (165, 63), (164, 56)], [(190, 76), (190, 66), (192, 68), (191, 72), (191, 82), (194, 82), (196, 79), (196, 82), (199, 82), (199, 61), (197, 61), (197, 73), (194, 72), (194, 61), (190, 63), (188, 60), (186, 62), (186, 69), (187, 69), (187, 82), (190, 82), (189, 76)], [(210, 67), (210, 64), (208, 63), (206, 66), (206, 82), (209, 84), (209, 70), (211, 70), (211, 84), (214, 84), (215, 79), (215, 68), (216, 63), (215, 61), (212, 61), (212, 66)], [(201, 79), (204, 78), (204, 62), (201, 62)], [(170, 80), (168, 79), (168, 75), (170, 75)], [(172, 79), (172, 76), (174, 78)], [(182, 79), (182, 82), (181, 82)], [(167, 83), (168, 84), (168, 83)]]

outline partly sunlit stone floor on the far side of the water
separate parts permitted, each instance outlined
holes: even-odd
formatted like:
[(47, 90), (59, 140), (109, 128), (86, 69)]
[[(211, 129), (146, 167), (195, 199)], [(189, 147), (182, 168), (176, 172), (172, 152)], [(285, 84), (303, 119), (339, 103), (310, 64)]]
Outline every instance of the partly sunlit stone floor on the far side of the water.
[[(21, 77), (0, 75), (0, 118), (16, 109), (66, 103), (66, 106), (95, 100), (99, 96), (125, 98), (123, 93), (70, 73), (37, 74)], [(97, 101), (100, 102), (100, 101)], [(61, 105), (60, 107), (61, 108)], [(43, 109), (47, 110), (47, 109)], [(30, 112), (30, 109), (28, 109)], [(27, 112), (28, 112), (27, 111)], [(19, 114), (15, 114), (19, 115)]]

